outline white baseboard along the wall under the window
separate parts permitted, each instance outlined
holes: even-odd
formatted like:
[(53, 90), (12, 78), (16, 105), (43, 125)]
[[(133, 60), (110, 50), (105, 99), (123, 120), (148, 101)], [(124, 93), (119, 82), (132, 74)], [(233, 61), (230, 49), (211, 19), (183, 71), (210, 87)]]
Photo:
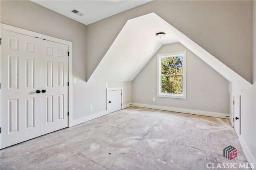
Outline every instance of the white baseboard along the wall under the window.
[(166, 110), (166, 111), (175, 111), (175, 112), (188, 113), (188, 114), (193, 114), (193, 115), (219, 117), (219, 118), (224, 118), (224, 119), (228, 119), (230, 116), (227, 113), (200, 111), (200, 110), (192, 110), (192, 109), (181, 109), (181, 108), (175, 108), (175, 107), (156, 106), (156, 105), (140, 104), (140, 103), (132, 103), (132, 106), (146, 107), (146, 108), (150, 108), (150, 109), (158, 109), (158, 110)]

